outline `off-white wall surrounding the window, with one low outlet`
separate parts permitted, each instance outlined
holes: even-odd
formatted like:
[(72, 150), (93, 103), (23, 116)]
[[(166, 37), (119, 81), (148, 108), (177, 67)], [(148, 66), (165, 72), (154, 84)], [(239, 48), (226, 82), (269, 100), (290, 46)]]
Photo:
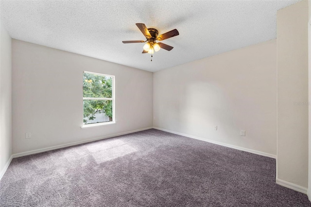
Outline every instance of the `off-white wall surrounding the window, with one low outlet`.
[[(16, 39), (12, 58), (14, 154), (152, 127), (151, 72)], [(115, 75), (116, 124), (81, 129), (84, 70)]]

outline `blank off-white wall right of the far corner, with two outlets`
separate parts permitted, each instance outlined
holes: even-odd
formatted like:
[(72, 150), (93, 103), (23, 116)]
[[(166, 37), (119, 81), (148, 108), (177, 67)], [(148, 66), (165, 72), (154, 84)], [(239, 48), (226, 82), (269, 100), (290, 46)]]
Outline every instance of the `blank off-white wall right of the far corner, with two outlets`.
[(276, 155), (276, 39), (155, 72), (154, 126)]

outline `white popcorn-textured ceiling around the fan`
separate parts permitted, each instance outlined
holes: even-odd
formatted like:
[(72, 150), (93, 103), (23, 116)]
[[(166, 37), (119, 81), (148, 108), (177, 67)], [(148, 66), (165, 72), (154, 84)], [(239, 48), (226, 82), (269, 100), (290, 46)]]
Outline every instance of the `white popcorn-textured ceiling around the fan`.
[[(148, 71), (276, 38), (276, 11), (298, 0), (133, 1), (1, 0), (1, 21), (12, 38)], [(173, 29), (162, 42), (174, 47), (142, 54), (135, 23)]]

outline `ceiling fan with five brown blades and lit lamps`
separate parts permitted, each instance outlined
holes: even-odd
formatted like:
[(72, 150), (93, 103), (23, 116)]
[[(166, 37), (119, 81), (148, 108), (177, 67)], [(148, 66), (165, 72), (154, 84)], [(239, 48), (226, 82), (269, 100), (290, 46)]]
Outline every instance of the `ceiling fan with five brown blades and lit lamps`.
[[(142, 53), (150, 53), (153, 54), (154, 52), (159, 51), (161, 48), (167, 51), (171, 51), (173, 49), (172, 46), (166, 45), (164, 43), (157, 43), (156, 41), (162, 41), (173, 36), (179, 35), (176, 29), (171, 30), (170, 32), (164, 33), (162, 35), (158, 35), (158, 31), (155, 28), (147, 28), (143, 23), (136, 23), (138, 29), (142, 32), (143, 35), (146, 37), (146, 41), (144, 40), (134, 40), (134, 41), (122, 41), (123, 43), (143, 43), (147, 42), (144, 45), (144, 50)], [(152, 60), (151, 60), (152, 61)]]

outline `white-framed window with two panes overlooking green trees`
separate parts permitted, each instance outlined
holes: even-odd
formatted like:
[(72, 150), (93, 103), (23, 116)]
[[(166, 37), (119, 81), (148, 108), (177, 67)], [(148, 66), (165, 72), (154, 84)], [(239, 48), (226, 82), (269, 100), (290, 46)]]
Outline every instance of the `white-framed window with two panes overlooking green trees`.
[(114, 122), (114, 76), (83, 73), (83, 125)]

